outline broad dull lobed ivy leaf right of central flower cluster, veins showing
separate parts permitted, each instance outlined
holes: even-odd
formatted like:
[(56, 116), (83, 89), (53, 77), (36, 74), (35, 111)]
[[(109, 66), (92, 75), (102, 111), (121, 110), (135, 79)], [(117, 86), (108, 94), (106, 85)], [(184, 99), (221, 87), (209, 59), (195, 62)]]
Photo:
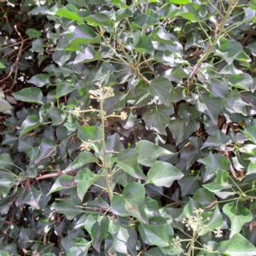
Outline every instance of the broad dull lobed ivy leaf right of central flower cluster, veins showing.
[(169, 115), (172, 115), (172, 113), (174, 113), (172, 105), (169, 108), (160, 106), (144, 113), (143, 119), (149, 130), (157, 131), (160, 134), (166, 135), (166, 126), (170, 122)]

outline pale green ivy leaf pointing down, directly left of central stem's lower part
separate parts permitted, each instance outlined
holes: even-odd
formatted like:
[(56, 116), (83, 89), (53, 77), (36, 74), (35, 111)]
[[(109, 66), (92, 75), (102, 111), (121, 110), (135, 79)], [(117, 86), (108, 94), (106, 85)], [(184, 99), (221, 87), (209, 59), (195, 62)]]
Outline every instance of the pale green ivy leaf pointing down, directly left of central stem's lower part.
[(78, 183), (78, 196), (81, 201), (84, 199), (84, 195), (87, 193), (90, 186), (96, 182), (96, 180), (102, 177), (102, 174), (95, 174), (88, 168), (84, 168), (79, 171), (74, 181)]

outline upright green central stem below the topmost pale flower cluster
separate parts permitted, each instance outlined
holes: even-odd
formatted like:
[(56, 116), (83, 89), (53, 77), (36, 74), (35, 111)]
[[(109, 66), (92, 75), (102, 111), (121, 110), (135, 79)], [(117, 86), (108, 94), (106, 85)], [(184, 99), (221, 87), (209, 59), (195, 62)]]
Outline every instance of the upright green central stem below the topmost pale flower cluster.
[(105, 126), (104, 126), (105, 116), (103, 112), (103, 99), (101, 98), (99, 100), (100, 100), (100, 112), (101, 112), (101, 119), (102, 119), (102, 149), (103, 149), (102, 166), (103, 166), (103, 169), (106, 171), (105, 177), (106, 177), (108, 196), (110, 201), (112, 201), (113, 191), (111, 186), (111, 177), (108, 173), (107, 149), (105, 144)]

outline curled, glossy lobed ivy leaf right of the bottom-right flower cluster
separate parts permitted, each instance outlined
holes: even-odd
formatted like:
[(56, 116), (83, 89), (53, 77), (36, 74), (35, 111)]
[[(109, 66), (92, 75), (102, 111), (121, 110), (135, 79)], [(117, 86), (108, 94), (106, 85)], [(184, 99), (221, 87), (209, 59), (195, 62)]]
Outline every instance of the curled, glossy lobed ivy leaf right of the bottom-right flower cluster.
[(247, 207), (237, 206), (233, 202), (224, 205), (223, 211), (231, 220), (230, 237), (239, 233), (243, 224), (246, 224), (253, 219), (252, 212), (250, 212)]

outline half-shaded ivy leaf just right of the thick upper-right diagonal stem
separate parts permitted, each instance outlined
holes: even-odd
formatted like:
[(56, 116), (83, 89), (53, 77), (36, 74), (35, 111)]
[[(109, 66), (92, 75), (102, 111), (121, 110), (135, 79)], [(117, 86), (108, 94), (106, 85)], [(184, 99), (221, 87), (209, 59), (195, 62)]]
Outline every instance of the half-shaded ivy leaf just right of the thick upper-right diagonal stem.
[(236, 56), (240, 55), (243, 52), (242, 46), (240, 43), (235, 40), (230, 40), (222, 44), (216, 53), (224, 58), (224, 60), (230, 65), (235, 61)]

